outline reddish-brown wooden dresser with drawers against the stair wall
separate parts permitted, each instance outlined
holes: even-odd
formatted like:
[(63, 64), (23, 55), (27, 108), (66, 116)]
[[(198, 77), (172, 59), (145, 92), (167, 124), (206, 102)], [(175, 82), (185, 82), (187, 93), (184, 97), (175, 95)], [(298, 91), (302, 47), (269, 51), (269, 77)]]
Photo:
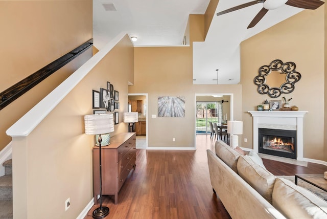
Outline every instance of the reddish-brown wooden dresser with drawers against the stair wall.
[[(136, 167), (136, 135), (122, 133), (110, 138), (108, 146), (101, 147), (102, 154), (102, 194), (114, 195), (114, 204), (118, 203), (118, 192), (122, 188), (129, 172)], [(93, 188), (94, 202), (100, 194), (99, 147), (93, 147)]]

